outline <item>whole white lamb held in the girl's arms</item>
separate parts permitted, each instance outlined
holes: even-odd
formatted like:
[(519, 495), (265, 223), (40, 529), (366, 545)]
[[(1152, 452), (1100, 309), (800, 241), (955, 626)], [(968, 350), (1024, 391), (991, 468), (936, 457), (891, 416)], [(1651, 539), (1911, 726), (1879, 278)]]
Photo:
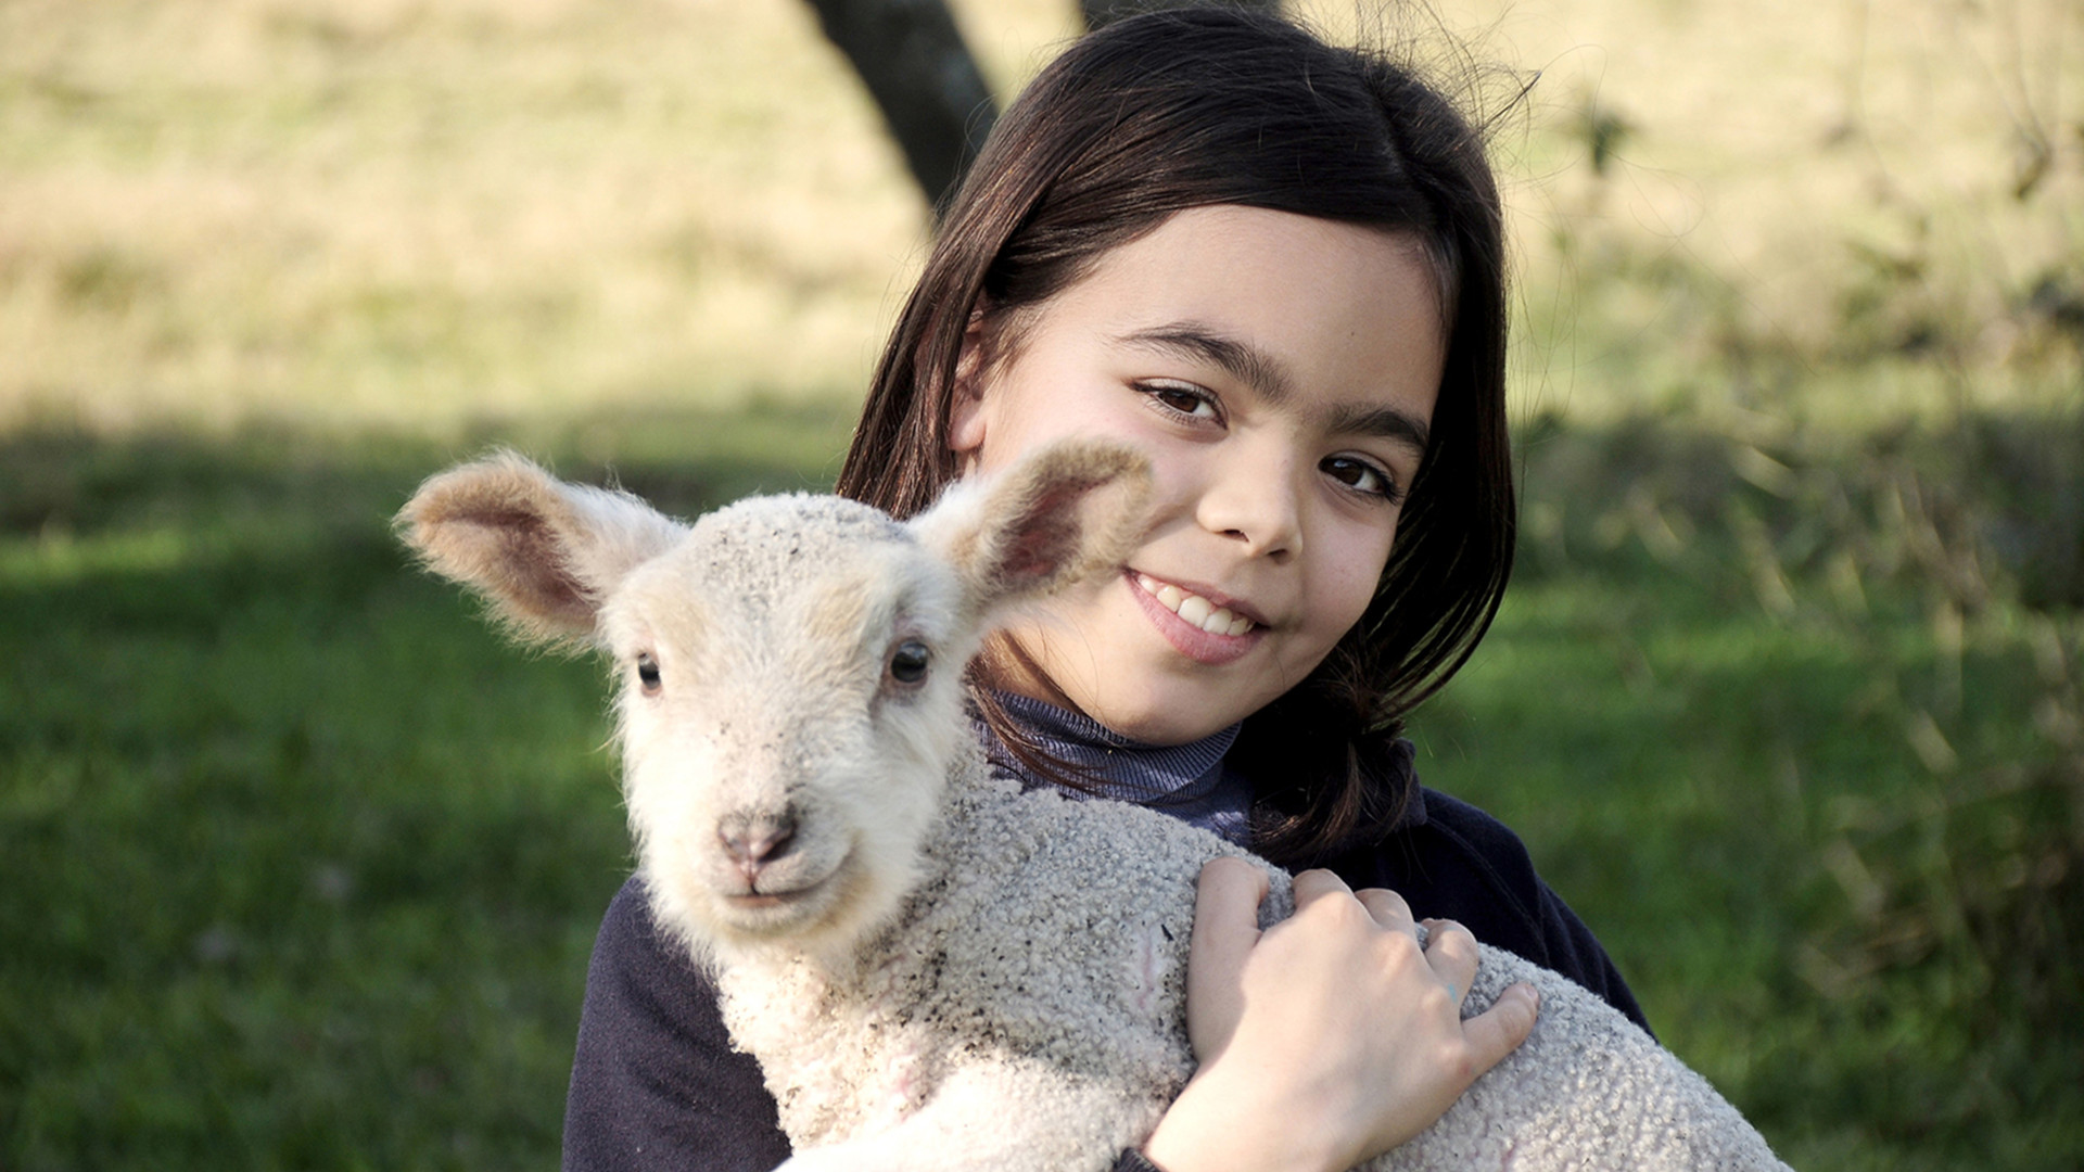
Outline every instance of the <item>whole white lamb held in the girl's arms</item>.
[[(963, 690), (996, 619), (1119, 567), (1146, 478), (1061, 444), (904, 523), (794, 494), (686, 526), (498, 455), (400, 513), (521, 638), (613, 659), (654, 920), (715, 974), (786, 1168), (1105, 1170), (1192, 1074), (1194, 878), (1242, 851), (994, 774)], [(1542, 997), (1528, 1043), (1373, 1168), (1782, 1168), (1553, 972), (1486, 949), (1463, 1014), (1515, 980)]]

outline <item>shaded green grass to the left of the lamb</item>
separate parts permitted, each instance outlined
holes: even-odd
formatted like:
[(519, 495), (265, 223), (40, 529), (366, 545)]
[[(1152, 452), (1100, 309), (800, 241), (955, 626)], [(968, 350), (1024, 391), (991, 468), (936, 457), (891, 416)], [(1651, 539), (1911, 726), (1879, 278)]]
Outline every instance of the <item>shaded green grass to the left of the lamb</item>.
[(686, 513), (838, 413), (0, 440), (0, 1166), (554, 1166), (627, 874), (592, 663), (390, 536), (494, 440)]

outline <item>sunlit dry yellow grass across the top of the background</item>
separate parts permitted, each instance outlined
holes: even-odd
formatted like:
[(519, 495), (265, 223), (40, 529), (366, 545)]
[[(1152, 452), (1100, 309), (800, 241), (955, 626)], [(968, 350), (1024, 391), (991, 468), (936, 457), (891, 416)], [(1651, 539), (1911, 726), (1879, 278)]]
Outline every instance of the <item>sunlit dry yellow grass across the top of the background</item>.
[[(1355, 25), (1350, 4), (1302, 8)], [(1073, 27), (1067, 0), (959, 15), (1000, 92)], [(1500, 154), (1532, 405), (1665, 394), (1730, 332), (1828, 357), (1869, 269), (1915, 269), (1882, 313), (1978, 323), (1946, 361), (2003, 396), (2026, 292), (2080, 254), (2084, 17), (2065, 0), (1444, 21), (1542, 71)], [(1594, 104), (1630, 127), (1607, 175), (1586, 158)], [(2046, 171), (2013, 200), (2032, 133)], [(923, 238), (873, 108), (794, 0), (0, 6), (0, 430), (848, 398)], [(1707, 300), (1609, 279), (1642, 265)], [(1628, 380), (1598, 367), (1615, 346), (1646, 355)], [(1867, 384), (1909, 398), (1953, 377), (1921, 352), (1884, 367)]]

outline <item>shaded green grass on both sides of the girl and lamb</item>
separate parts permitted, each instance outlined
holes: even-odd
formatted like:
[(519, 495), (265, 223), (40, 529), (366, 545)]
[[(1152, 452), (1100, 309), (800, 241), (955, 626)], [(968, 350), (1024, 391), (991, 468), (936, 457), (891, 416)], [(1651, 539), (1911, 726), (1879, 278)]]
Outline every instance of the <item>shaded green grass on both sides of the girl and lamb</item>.
[[(844, 423), (659, 417), (575, 430), (592, 457), (540, 448), (700, 511), (825, 482)], [(2074, 1166), (2074, 970), (2040, 972), (2055, 1003), (2032, 1011), (2038, 970), (1976, 968), (1986, 934), (1942, 932), (1844, 976), (1876, 955), (1844, 851), (1915, 880), (1888, 817), (2055, 759), (2021, 719), (2040, 619), (1969, 621), (1955, 686), (1915, 580), (1869, 576), (1844, 624), (1788, 561), (1776, 615), (1709, 513), (1673, 519), (1678, 555), (1615, 538), (1659, 450), (1715, 475), (1705, 440), (1642, 442), (1534, 444), (1534, 511), (1565, 519), (1415, 724), (1423, 776), (1525, 836), (1661, 1036), (1796, 1166)], [(554, 1162), (586, 955), (629, 863), (598, 669), (504, 646), (388, 534), (475, 446), (0, 444), (0, 1166)], [(1626, 475), (1571, 480), (1596, 467)], [(1763, 523), (1794, 517), (1748, 492)], [(1907, 711), (1940, 713), (1951, 774)], [(1951, 865), (1994, 857), (1942, 822)], [(1930, 920), (1913, 886), (1890, 899)]]

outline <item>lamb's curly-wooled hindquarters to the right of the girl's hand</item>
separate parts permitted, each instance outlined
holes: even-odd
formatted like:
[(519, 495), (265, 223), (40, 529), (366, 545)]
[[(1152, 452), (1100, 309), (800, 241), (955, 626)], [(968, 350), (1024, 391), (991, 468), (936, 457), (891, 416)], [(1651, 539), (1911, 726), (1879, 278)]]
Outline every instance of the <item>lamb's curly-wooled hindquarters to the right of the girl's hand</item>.
[(1534, 1034), (1375, 1172), (1786, 1170), (1705, 1078), (1555, 972), (1486, 949), (1463, 1016), (1515, 980), (1542, 995)]

